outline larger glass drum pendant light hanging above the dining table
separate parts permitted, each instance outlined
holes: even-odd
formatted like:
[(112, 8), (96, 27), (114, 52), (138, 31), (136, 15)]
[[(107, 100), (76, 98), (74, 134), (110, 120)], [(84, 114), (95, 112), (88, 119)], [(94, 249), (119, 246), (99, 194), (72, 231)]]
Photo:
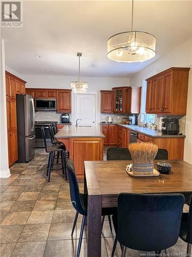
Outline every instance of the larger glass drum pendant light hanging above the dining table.
[(117, 62), (142, 62), (155, 57), (156, 38), (154, 35), (132, 29), (111, 36), (108, 40), (108, 58)]

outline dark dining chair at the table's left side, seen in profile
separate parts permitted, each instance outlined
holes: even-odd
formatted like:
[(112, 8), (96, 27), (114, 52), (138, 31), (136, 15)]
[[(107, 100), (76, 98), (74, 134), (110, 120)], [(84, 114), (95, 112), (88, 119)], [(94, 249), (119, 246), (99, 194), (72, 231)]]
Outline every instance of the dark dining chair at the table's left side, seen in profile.
[[(83, 235), (83, 230), (84, 230), (84, 224), (86, 221), (86, 217), (88, 215), (88, 197), (87, 197), (87, 194), (81, 194), (79, 192), (78, 180), (77, 180), (77, 177), (75, 174), (74, 163), (72, 160), (69, 160), (67, 162), (67, 172), (68, 172), (68, 178), (69, 178), (71, 202), (72, 202), (73, 207), (76, 210), (76, 215), (75, 215), (75, 220), (74, 220), (71, 235), (73, 235), (73, 232), (74, 232), (74, 229), (75, 229), (75, 226), (77, 223), (78, 214), (81, 214), (83, 216), (82, 223), (81, 223), (80, 236), (79, 236), (79, 243), (78, 243), (78, 248), (77, 248), (77, 257), (79, 257), (81, 243), (82, 243), (82, 235)], [(108, 215), (110, 228), (112, 230), (110, 215), (113, 215), (116, 213), (117, 213), (117, 208), (102, 208), (101, 228), (103, 227), (105, 215)]]

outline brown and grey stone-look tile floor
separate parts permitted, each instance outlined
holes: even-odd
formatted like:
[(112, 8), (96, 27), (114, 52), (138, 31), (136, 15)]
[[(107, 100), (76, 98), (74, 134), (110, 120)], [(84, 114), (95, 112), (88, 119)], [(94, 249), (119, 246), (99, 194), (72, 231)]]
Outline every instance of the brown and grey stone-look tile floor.
[[(75, 210), (70, 201), (69, 184), (62, 178), (61, 171), (53, 171), (51, 182), (47, 183), (47, 161), (45, 150), (37, 149), (33, 160), (15, 163), (11, 176), (1, 179), (2, 257), (76, 255), (81, 218), (71, 237)], [(79, 183), (79, 188), (83, 191), (83, 183)], [(187, 211), (187, 207), (184, 210)], [(102, 230), (102, 257), (111, 256), (114, 236), (106, 220)], [(86, 250), (85, 232), (81, 256), (87, 256)], [(186, 244), (179, 240), (169, 251), (182, 255), (186, 252)], [(121, 256), (119, 246), (115, 256)], [(126, 256), (137, 257), (140, 252), (127, 249)]]

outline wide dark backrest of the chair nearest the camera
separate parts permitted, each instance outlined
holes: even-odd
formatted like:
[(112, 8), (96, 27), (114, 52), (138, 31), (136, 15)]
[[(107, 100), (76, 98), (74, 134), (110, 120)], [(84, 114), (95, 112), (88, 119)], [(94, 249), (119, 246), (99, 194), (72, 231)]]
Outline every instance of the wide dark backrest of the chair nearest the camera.
[(182, 194), (120, 194), (119, 243), (141, 251), (159, 251), (175, 245), (183, 205)]

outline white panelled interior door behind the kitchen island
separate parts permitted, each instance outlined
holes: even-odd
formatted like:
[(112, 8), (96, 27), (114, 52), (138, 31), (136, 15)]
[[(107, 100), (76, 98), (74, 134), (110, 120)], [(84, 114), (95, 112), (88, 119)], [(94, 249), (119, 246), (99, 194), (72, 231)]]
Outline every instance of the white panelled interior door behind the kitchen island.
[(75, 94), (75, 121), (81, 119), (79, 126), (95, 126), (96, 95)]

